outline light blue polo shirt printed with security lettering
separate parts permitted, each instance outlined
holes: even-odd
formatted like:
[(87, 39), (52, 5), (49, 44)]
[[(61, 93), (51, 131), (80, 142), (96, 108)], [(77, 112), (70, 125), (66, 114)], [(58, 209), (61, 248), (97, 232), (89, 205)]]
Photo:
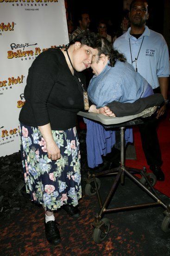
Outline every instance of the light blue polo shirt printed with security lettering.
[[(161, 34), (149, 29), (147, 26), (145, 26), (144, 33), (138, 39), (130, 34), (130, 30), (131, 27), (129, 27), (125, 34), (116, 39), (113, 47), (120, 53), (123, 53), (127, 62), (132, 64), (134, 68), (136, 67), (135, 58), (137, 58), (139, 53), (137, 60), (138, 72), (155, 89), (159, 87), (158, 77), (170, 76), (170, 60), (166, 41)], [(132, 63), (132, 61), (134, 62)]]

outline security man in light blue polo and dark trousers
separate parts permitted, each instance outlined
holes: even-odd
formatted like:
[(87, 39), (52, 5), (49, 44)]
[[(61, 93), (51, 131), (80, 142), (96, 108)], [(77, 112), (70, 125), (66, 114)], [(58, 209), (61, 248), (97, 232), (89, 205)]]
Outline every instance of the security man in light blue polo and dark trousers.
[(147, 1), (133, 0), (129, 12), (131, 27), (115, 40), (113, 47), (123, 53), (136, 71), (150, 83), (154, 93), (161, 92), (164, 96), (164, 105), (158, 109), (156, 116), (145, 120), (139, 127), (147, 163), (157, 176), (157, 180), (164, 181), (156, 127), (157, 119), (164, 115), (168, 103), (170, 62), (164, 37), (145, 26), (148, 17)]

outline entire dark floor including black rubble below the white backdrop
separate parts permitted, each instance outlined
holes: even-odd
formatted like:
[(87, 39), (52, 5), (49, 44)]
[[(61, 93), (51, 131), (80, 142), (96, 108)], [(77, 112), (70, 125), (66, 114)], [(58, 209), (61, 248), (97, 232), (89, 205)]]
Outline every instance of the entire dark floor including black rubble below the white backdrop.
[[(93, 241), (92, 222), (99, 211), (96, 196), (85, 195), (87, 177), (85, 134), (80, 135), (82, 152), (81, 217), (74, 220), (63, 209), (55, 213), (62, 242), (51, 246), (45, 239), (44, 212), (32, 204), (25, 194), (19, 153), (0, 158), (0, 255), (10, 256), (170, 256), (170, 233), (161, 224), (163, 207), (150, 207), (105, 214), (111, 229), (105, 241)], [(104, 199), (115, 176), (101, 177), (101, 197)], [(159, 193), (168, 202), (168, 198)], [(109, 208), (154, 202), (143, 190), (126, 177), (119, 185)]]

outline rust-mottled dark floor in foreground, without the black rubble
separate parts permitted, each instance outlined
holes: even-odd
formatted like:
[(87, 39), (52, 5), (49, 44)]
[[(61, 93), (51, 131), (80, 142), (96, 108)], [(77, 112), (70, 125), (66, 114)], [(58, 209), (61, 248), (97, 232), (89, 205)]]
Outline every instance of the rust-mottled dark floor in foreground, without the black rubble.
[[(113, 176), (101, 178), (102, 198), (107, 195), (113, 179)], [(167, 201), (165, 195), (159, 195)], [(134, 202), (153, 200), (126, 178), (126, 184), (119, 185), (110, 207), (132, 205)], [(0, 255), (170, 255), (170, 233), (161, 230), (164, 218), (162, 207), (106, 214), (105, 217), (111, 221), (111, 229), (101, 244), (94, 243), (92, 239), (91, 223), (99, 210), (96, 197), (83, 195), (80, 209), (82, 215), (78, 221), (67, 216), (63, 210), (56, 214), (62, 237), (62, 243), (57, 247), (49, 245), (45, 240), (44, 213), (39, 207), (21, 210), (9, 220), (3, 220), (0, 227)]]

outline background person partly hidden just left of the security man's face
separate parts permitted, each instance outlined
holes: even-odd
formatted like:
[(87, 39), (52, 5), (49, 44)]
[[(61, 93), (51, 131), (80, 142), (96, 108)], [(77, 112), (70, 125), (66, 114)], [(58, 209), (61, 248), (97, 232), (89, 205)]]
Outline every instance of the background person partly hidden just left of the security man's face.
[(130, 22), (129, 22), (129, 17), (128, 17), (128, 10), (124, 10), (123, 15), (121, 16), (121, 21), (120, 21), (120, 27), (118, 28), (117, 32), (115, 33), (116, 35), (113, 37), (113, 42), (120, 37), (122, 34), (125, 34)]

